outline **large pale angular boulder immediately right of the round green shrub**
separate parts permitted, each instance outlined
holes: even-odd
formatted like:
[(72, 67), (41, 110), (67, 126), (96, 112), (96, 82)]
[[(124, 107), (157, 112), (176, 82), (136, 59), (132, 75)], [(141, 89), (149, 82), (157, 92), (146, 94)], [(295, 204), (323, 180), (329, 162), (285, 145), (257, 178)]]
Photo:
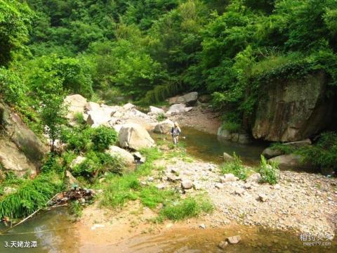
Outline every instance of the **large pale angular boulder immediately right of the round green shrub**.
[(118, 140), (121, 148), (131, 148), (133, 150), (154, 146), (154, 140), (140, 124), (124, 124), (121, 126)]

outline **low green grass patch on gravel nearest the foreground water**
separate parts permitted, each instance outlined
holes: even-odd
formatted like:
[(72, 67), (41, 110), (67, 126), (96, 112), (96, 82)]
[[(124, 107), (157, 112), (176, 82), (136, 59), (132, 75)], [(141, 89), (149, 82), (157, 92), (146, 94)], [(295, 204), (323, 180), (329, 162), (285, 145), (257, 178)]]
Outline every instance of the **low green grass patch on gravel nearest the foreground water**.
[(173, 221), (199, 216), (201, 213), (213, 212), (213, 205), (203, 197), (188, 197), (185, 200), (171, 202), (161, 209), (160, 216)]

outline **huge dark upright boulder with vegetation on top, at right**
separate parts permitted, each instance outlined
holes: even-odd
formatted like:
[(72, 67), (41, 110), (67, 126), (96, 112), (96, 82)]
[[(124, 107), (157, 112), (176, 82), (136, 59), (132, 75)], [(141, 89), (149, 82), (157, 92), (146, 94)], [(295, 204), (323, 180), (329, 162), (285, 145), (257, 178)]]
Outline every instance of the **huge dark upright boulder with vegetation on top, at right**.
[(324, 71), (300, 79), (279, 80), (265, 87), (253, 123), (254, 138), (300, 141), (322, 131), (330, 122), (333, 98), (326, 98)]

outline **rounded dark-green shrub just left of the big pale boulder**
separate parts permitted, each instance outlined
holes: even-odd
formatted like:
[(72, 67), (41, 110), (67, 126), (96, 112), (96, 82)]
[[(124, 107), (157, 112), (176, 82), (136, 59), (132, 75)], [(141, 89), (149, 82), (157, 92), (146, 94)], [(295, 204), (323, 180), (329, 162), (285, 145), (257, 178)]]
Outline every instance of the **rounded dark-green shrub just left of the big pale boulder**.
[(107, 126), (98, 126), (93, 131), (91, 140), (96, 150), (106, 150), (110, 145), (117, 143), (118, 135), (114, 129)]

